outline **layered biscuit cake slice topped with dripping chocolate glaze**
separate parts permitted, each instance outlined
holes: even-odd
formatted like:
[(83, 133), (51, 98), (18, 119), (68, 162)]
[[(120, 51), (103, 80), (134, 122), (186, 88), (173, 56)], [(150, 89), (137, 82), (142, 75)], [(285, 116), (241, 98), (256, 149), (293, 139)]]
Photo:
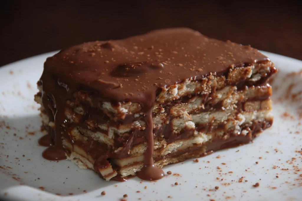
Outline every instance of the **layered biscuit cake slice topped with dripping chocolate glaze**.
[(256, 49), (187, 28), (87, 42), (47, 58), (35, 96), (43, 157), (105, 180), (249, 143), (271, 126), (274, 64)]

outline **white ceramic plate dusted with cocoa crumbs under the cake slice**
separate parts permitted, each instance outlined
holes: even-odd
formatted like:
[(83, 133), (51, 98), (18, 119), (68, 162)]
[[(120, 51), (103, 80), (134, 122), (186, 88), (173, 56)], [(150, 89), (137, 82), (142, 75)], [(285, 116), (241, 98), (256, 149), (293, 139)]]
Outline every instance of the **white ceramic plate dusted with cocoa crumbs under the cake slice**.
[[(263, 52), (279, 70), (272, 84), (275, 121), (254, 143), (216, 152), (198, 163), (192, 159), (168, 165), (163, 170), (172, 174), (157, 182), (138, 178), (106, 182), (70, 161), (52, 162), (41, 156), (44, 147), (37, 143), (41, 121), (33, 99), (43, 62), (54, 53), (0, 68), (2, 199), (114, 201), (124, 194), (127, 200), (302, 199), (302, 75), (293, 73), (302, 70), (302, 61)], [(253, 187), (257, 182), (260, 186)]]

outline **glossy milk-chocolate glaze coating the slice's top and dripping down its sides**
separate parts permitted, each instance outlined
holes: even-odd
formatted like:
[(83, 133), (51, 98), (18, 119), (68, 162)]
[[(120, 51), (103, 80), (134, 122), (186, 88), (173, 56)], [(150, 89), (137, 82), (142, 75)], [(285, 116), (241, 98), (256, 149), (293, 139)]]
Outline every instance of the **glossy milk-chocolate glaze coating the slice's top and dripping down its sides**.
[[(43, 152), (43, 157), (65, 159), (61, 138), (67, 132), (64, 108), (74, 92), (85, 88), (94, 91), (101, 101), (140, 103), (147, 124), (147, 151), (138, 176), (159, 179), (163, 172), (153, 165), (152, 158), (152, 109), (162, 88), (225, 72), (231, 64), (241, 67), (268, 60), (249, 46), (210, 39), (187, 28), (157, 30), (124, 40), (88, 42), (62, 50), (47, 58), (40, 78), (43, 107), (55, 123), (53, 146)], [(93, 102), (100, 107), (100, 101)], [(104, 160), (109, 156), (110, 153), (99, 156), (95, 169), (98, 164), (106, 164)]]

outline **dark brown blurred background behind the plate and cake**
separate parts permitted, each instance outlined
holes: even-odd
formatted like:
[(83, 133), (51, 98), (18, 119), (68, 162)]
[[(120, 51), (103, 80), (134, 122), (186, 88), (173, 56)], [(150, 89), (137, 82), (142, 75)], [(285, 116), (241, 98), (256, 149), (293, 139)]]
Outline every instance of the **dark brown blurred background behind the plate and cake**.
[(165, 27), (302, 60), (302, 1), (1, 1), (0, 66)]

